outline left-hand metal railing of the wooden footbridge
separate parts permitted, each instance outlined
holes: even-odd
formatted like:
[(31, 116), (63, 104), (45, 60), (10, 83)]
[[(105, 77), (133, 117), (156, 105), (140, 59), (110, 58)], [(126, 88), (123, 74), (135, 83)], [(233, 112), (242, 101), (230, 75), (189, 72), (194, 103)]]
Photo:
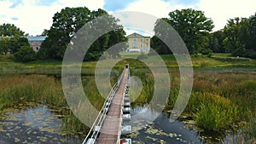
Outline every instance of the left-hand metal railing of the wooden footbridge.
[(119, 84), (124, 77), (125, 69), (120, 75), (119, 79), (115, 84), (113, 84), (112, 89), (110, 90), (108, 97), (106, 101), (104, 102), (101, 111), (98, 113), (96, 120), (92, 124), (89, 133), (84, 138), (84, 141), (82, 144), (94, 144), (96, 142), (96, 138), (99, 135), (100, 131), (102, 130), (102, 124), (107, 116), (108, 109), (110, 107), (111, 101), (113, 99), (113, 96), (115, 95), (117, 89), (119, 88)]

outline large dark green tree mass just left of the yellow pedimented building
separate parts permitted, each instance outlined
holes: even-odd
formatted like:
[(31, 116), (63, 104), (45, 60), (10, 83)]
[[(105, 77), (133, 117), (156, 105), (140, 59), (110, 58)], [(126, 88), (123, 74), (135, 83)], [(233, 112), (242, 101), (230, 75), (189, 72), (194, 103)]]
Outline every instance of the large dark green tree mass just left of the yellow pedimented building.
[[(94, 20), (96, 17), (104, 14), (108, 15), (108, 13), (102, 9), (90, 11), (86, 7), (61, 9), (61, 12), (56, 13), (53, 17), (53, 24), (48, 31), (48, 37), (45, 39), (44, 43), (42, 43), (42, 49), (38, 52), (38, 58), (61, 60), (67, 49), (67, 44), (74, 34), (88, 21)], [(108, 24), (118, 26), (118, 20), (111, 15), (108, 16)], [(98, 29), (102, 30), (96, 31), (104, 31), (104, 26)], [(86, 37), (90, 37), (90, 35)], [(84, 60), (97, 60), (105, 49), (112, 46), (114, 43), (123, 42), (125, 40), (125, 31), (122, 26), (119, 26), (118, 30), (106, 33), (92, 43), (86, 53), (87, 55), (84, 56)], [(120, 49), (115, 49), (109, 55), (115, 57), (118, 55), (119, 51)]]

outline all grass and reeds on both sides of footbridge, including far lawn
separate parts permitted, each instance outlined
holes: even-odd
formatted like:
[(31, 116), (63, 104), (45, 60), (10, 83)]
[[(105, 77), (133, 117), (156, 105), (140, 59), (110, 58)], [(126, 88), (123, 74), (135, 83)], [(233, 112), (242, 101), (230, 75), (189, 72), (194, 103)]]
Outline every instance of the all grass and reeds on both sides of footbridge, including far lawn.
[[(143, 82), (142, 92), (133, 104), (144, 105), (151, 100), (154, 93), (154, 78), (148, 67), (136, 60), (137, 56), (123, 54), (124, 60), (119, 61), (113, 69), (121, 72), (126, 63), (130, 64), (131, 75), (141, 78)], [(179, 70), (173, 55), (161, 55), (161, 58), (165, 60), (172, 80), (172, 89), (165, 107), (165, 112), (170, 112), (179, 90)], [(151, 59), (154, 60), (154, 56)], [(220, 54), (212, 57), (192, 55), (191, 59), (194, 85), (184, 113), (193, 117), (196, 124), (204, 130), (243, 130), (247, 139), (255, 137), (256, 60)], [(67, 106), (61, 81), (58, 79), (61, 75), (61, 61), (34, 61), (24, 64), (2, 57), (0, 65), (0, 114), (4, 108), (12, 107), (15, 103), (31, 101), (59, 108), (59, 114), (63, 115), (64, 131), (83, 133), (88, 130)], [(104, 99), (96, 89), (93, 77), (95, 66), (96, 61), (83, 63), (82, 83), (90, 102), (96, 109), (100, 109)], [(111, 79), (112, 83), (117, 77), (118, 74)]]

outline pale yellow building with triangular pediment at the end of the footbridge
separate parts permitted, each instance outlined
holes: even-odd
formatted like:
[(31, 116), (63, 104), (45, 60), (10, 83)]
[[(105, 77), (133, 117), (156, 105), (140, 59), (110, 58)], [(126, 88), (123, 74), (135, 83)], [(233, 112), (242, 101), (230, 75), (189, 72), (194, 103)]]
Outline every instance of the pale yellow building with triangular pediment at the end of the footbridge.
[(129, 47), (126, 52), (131, 53), (148, 53), (150, 50), (150, 37), (132, 33), (128, 37)]

